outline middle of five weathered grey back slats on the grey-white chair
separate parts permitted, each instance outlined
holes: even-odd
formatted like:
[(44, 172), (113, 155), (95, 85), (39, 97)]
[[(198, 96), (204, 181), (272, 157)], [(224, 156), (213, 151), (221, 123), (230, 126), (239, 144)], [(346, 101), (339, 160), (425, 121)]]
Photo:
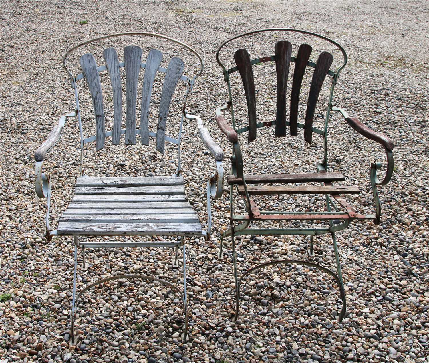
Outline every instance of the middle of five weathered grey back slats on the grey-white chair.
[(128, 45), (124, 48), (125, 80), (127, 90), (127, 121), (125, 123), (125, 145), (136, 145), (136, 102), (142, 48)]

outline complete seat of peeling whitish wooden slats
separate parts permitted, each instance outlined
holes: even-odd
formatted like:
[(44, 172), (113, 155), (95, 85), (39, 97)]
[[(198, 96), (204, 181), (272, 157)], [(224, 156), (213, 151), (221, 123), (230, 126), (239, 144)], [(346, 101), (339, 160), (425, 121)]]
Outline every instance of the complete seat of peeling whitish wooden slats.
[(68, 236), (201, 236), (183, 177), (78, 178), (57, 233)]

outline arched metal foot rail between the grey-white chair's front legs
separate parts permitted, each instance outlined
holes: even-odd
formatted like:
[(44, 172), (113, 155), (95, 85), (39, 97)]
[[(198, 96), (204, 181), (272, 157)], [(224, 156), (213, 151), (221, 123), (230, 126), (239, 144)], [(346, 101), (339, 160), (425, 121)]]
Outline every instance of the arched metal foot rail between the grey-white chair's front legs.
[(183, 306), (184, 306), (184, 320), (185, 320), (185, 326), (184, 326), (184, 341), (187, 338), (187, 327), (188, 327), (188, 320), (187, 320), (187, 306), (186, 306), (186, 300), (184, 299), (184, 295), (181, 292), (181, 290), (175, 286), (174, 284), (172, 284), (169, 281), (166, 280), (162, 280), (160, 278), (156, 278), (153, 276), (148, 276), (148, 275), (140, 275), (140, 274), (136, 274), (136, 275), (115, 275), (115, 276), (109, 276), (106, 278), (103, 278), (101, 280), (98, 280), (96, 282), (93, 282), (92, 284), (89, 284), (88, 286), (85, 286), (82, 290), (79, 291), (79, 293), (76, 295), (76, 299), (74, 299), (74, 304), (72, 306), (72, 328), (71, 328), (71, 337), (72, 337), (72, 344), (76, 343), (76, 336), (75, 336), (75, 332), (74, 332), (74, 322), (75, 322), (75, 315), (76, 315), (76, 311), (78, 308), (78, 301), (79, 301), (79, 297), (85, 293), (86, 291), (88, 291), (89, 289), (91, 289), (94, 286), (103, 284), (104, 282), (107, 281), (113, 281), (113, 280), (119, 280), (122, 278), (137, 278), (137, 279), (141, 279), (144, 281), (157, 281), (160, 282), (161, 284), (164, 284), (168, 287), (171, 287), (173, 290), (175, 290), (176, 292), (179, 293), (179, 295), (181, 296), (182, 302), (183, 302)]

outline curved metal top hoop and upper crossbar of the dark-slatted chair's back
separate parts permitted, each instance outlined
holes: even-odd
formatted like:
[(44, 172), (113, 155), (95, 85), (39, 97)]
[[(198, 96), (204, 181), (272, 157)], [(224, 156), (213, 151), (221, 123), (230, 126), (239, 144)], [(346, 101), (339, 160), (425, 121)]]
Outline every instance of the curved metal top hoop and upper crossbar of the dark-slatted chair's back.
[[(257, 33), (265, 33), (265, 32), (272, 32), (272, 31), (285, 31), (285, 32), (291, 32), (291, 33), (302, 33), (302, 34), (307, 34), (307, 35), (315, 36), (315, 37), (317, 37), (317, 38), (320, 38), (320, 39), (326, 40), (327, 42), (329, 42), (329, 43), (331, 43), (331, 44), (335, 45), (335, 46), (336, 46), (336, 47), (341, 51), (341, 53), (343, 54), (343, 64), (341, 64), (341, 66), (340, 66), (340, 67), (338, 67), (338, 68), (335, 70), (335, 72), (331, 72), (331, 71), (329, 71), (329, 73), (328, 73), (328, 74), (329, 74), (330, 76), (332, 76), (332, 77), (333, 77), (333, 76), (335, 76), (335, 74), (336, 74), (336, 76), (338, 77), (338, 74), (341, 72), (341, 70), (342, 70), (342, 69), (345, 67), (345, 65), (347, 64), (347, 53), (346, 53), (346, 51), (344, 50), (344, 48), (343, 48), (343, 47), (341, 47), (341, 45), (339, 45), (337, 42), (335, 42), (335, 40), (329, 39), (328, 37), (323, 36), (323, 35), (320, 35), (320, 34), (317, 34), (317, 33), (312, 33), (312, 32), (310, 32), (310, 31), (301, 30), (301, 29), (293, 29), (293, 28), (269, 28), (269, 29), (260, 29), (260, 30), (254, 30), (254, 31), (250, 31), (250, 32), (248, 32), (248, 33), (243, 33), (243, 34), (240, 34), (240, 35), (234, 36), (234, 37), (232, 37), (232, 38), (230, 38), (230, 39), (226, 40), (225, 42), (223, 42), (223, 43), (219, 46), (218, 50), (216, 51), (216, 62), (218, 62), (218, 64), (222, 67), (222, 70), (224, 71), (224, 73), (225, 73), (225, 72), (228, 72), (228, 74), (229, 74), (229, 73), (233, 73), (233, 72), (235, 72), (236, 70), (238, 70), (238, 68), (237, 68), (237, 67), (233, 67), (233, 68), (231, 68), (231, 69), (229, 69), (229, 70), (227, 71), (227, 69), (225, 68), (224, 64), (219, 60), (219, 53), (220, 53), (221, 49), (222, 49), (225, 45), (227, 45), (229, 42), (232, 42), (232, 41), (233, 41), (233, 40), (235, 40), (235, 39), (242, 38), (242, 37), (244, 37), (244, 36), (248, 36), (248, 35), (257, 34)], [(263, 57), (263, 58), (257, 58), (257, 59), (254, 59), (254, 60), (252, 60), (252, 61), (251, 61), (251, 64), (253, 65), (253, 64), (257, 64), (257, 63), (268, 62), (268, 61), (270, 61), (270, 60), (274, 60), (274, 56), (272, 56), (272, 57)], [(292, 57), (292, 58), (291, 58), (291, 60), (292, 60), (292, 61), (295, 61), (295, 57)], [(313, 62), (308, 62), (308, 66), (310, 66), (310, 67), (314, 67), (314, 66), (315, 66), (315, 64), (314, 64)], [(237, 69), (236, 69), (236, 68), (237, 68)]]

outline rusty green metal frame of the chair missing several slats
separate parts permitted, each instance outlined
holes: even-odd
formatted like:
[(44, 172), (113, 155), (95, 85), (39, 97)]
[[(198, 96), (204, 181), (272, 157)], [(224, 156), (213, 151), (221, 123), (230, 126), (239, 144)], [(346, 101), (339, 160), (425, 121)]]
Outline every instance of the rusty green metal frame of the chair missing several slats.
[[(227, 69), (224, 66), (224, 64), (222, 64), (222, 62), (219, 60), (219, 53), (220, 53), (221, 49), (224, 47), (224, 45), (233, 41), (234, 39), (238, 39), (238, 38), (241, 38), (243, 36), (253, 35), (256, 33), (264, 33), (264, 32), (270, 32), (270, 31), (296, 32), (296, 33), (303, 33), (303, 34), (315, 36), (317, 38), (324, 39), (324, 40), (332, 43), (333, 45), (335, 45), (341, 51), (341, 53), (343, 55), (343, 63), (341, 64), (341, 66), (339, 66), (335, 71), (329, 70), (329, 72), (328, 72), (328, 75), (332, 77), (332, 82), (331, 82), (331, 87), (330, 87), (330, 92), (329, 92), (328, 105), (326, 107), (326, 118), (325, 118), (324, 128), (323, 128), (323, 130), (320, 130), (320, 129), (317, 129), (314, 127), (312, 128), (313, 133), (316, 133), (316, 134), (323, 136), (323, 154), (324, 154), (323, 155), (323, 163), (321, 163), (317, 167), (317, 172), (327, 172), (328, 166), (329, 166), (329, 164), (328, 164), (328, 151), (327, 151), (327, 133), (328, 133), (327, 131), (328, 131), (328, 122), (329, 122), (330, 112), (331, 111), (340, 111), (343, 114), (343, 116), (345, 114), (344, 118), (348, 117), (347, 113), (344, 110), (332, 106), (332, 98), (334, 95), (335, 85), (338, 81), (338, 75), (341, 72), (341, 70), (345, 67), (345, 65), (347, 64), (347, 54), (346, 54), (344, 48), (342, 48), (341, 45), (339, 45), (334, 40), (329, 39), (329, 38), (322, 36), (320, 34), (317, 34), (317, 33), (312, 33), (312, 32), (308, 32), (305, 30), (290, 29), (290, 28), (273, 28), (273, 29), (255, 30), (255, 31), (240, 34), (240, 35), (235, 36), (231, 39), (228, 39), (227, 41), (222, 43), (220, 45), (220, 47), (218, 48), (218, 50), (216, 52), (216, 61), (222, 67), (222, 70), (224, 73), (224, 80), (227, 83), (229, 100), (228, 100), (226, 105), (220, 106), (220, 107), (218, 107), (218, 109), (216, 109), (216, 115), (218, 115), (218, 116), (221, 115), (222, 110), (230, 109), (231, 110), (231, 119), (232, 119), (233, 129), (236, 130), (236, 133), (240, 134), (240, 133), (243, 133), (245, 131), (248, 131), (249, 127), (242, 127), (242, 128), (239, 128), (237, 130), (235, 117), (234, 117), (233, 98), (232, 98), (231, 85), (230, 85), (230, 74), (236, 72), (238, 70), (238, 67), (233, 67), (233, 68)], [(252, 65), (260, 64), (263, 62), (268, 62), (268, 61), (273, 61), (273, 60), (275, 60), (274, 56), (256, 58), (254, 60), (251, 60), (251, 64)], [(291, 61), (295, 62), (296, 58), (291, 57)], [(316, 66), (316, 64), (314, 62), (311, 62), (311, 61), (308, 61), (307, 65), (309, 67), (313, 67), (313, 68)], [(288, 125), (289, 122), (287, 122), (286, 124)], [(256, 127), (261, 128), (261, 127), (273, 126), (273, 125), (275, 125), (275, 121), (268, 121), (268, 122), (258, 123), (256, 125)], [(298, 127), (304, 128), (304, 125), (298, 124)], [(389, 154), (389, 152), (390, 152), (390, 154)], [(393, 154), (391, 151), (387, 151), (387, 157), (388, 157), (389, 161), (390, 161), (390, 159), (393, 161)], [(236, 303), (236, 306), (235, 306), (234, 321), (237, 320), (238, 315), (239, 315), (240, 283), (242, 282), (242, 279), (245, 278), (247, 275), (251, 274), (251, 272), (254, 272), (254, 271), (261, 269), (263, 267), (266, 267), (266, 266), (272, 266), (272, 265), (276, 265), (276, 264), (292, 264), (292, 263), (296, 263), (296, 264), (300, 263), (300, 264), (304, 264), (307, 266), (312, 266), (314, 268), (320, 269), (323, 272), (328, 273), (329, 275), (331, 275), (332, 277), (335, 278), (335, 280), (338, 283), (340, 298), (341, 298), (341, 302), (342, 302), (341, 303), (341, 306), (342, 306), (341, 312), (338, 315), (338, 320), (341, 321), (346, 314), (346, 299), (345, 299), (344, 282), (343, 282), (342, 273), (341, 273), (341, 264), (340, 264), (340, 260), (339, 260), (339, 254), (338, 254), (338, 243), (337, 243), (335, 233), (338, 231), (341, 231), (341, 230), (345, 230), (350, 225), (350, 222), (354, 219), (360, 219), (360, 220), (369, 219), (369, 220), (375, 221), (375, 223), (379, 223), (381, 209), (380, 209), (380, 200), (378, 198), (378, 191), (377, 191), (376, 186), (387, 184), (387, 182), (390, 180), (390, 178), (392, 176), (392, 172), (393, 172), (393, 162), (388, 163), (388, 170), (386, 172), (386, 176), (385, 176), (383, 181), (378, 180), (377, 173), (376, 173), (376, 171), (381, 168), (381, 164), (380, 163), (372, 163), (372, 165), (371, 165), (370, 181), (371, 181), (372, 191), (373, 191), (373, 195), (374, 195), (375, 203), (376, 203), (376, 215), (356, 215), (356, 214), (354, 214), (356, 216), (356, 218), (352, 218), (349, 215), (349, 218), (343, 220), (342, 223), (340, 223), (340, 224), (334, 224), (332, 220), (329, 220), (328, 221), (329, 227), (327, 226), (325, 228), (276, 228), (276, 229), (275, 228), (248, 228), (248, 226), (251, 223), (255, 222), (255, 220), (252, 218), (253, 212), (252, 212), (252, 208), (251, 208), (251, 199), (250, 199), (250, 196), (248, 193), (248, 188), (247, 188), (245, 176), (243, 173), (243, 162), (242, 162), (242, 158), (241, 158), (241, 150), (240, 150), (239, 142), (233, 143), (233, 155), (231, 157), (231, 163), (232, 163), (232, 173), (236, 176), (236, 178), (242, 178), (242, 185), (243, 185), (244, 190), (245, 190), (245, 195), (242, 197), (245, 200), (245, 204), (246, 204), (247, 209), (248, 209), (248, 215), (250, 217), (250, 219), (248, 219), (248, 218), (243, 218), (243, 217), (247, 217), (247, 216), (233, 215), (233, 185), (231, 185), (230, 186), (230, 229), (221, 234), (220, 249), (219, 249), (219, 256), (218, 257), (222, 258), (223, 240), (230, 236), (231, 237), (231, 245), (232, 245), (232, 254), (233, 254), (234, 279), (236, 282), (236, 285), (235, 285), (235, 300), (236, 300), (235, 303)], [(392, 169), (392, 170), (390, 170), (390, 169)], [(341, 212), (329, 194), (325, 195), (325, 200), (326, 200), (327, 212), (260, 211), (260, 214), (261, 215), (262, 214), (264, 214), (264, 215), (270, 215), (270, 214), (317, 215), (317, 214), (323, 213), (325, 215), (326, 214), (332, 214), (333, 215), (333, 214), (336, 214), (338, 212)], [(332, 211), (332, 209), (334, 209), (334, 211)], [(348, 214), (347, 211), (344, 212), (344, 214), (346, 214), (346, 213)], [(244, 219), (246, 219), (246, 220), (244, 220)], [(235, 226), (234, 222), (239, 222), (239, 221), (241, 222), (241, 224)], [(310, 236), (309, 251), (308, 251), (308, 254), (310, 256), (314, 256), (314, 250), (313, 250), (314, 236), (319, 236), (319, 235), (323, 235), (323, 234), (330, 234), (332, 237), (332, 243), (333, 243), (333, 248), (334, 248), (335, 264), (336, 264), (337, 274), (335, 274), (335, 272), (332, 272), (329, 269), (326, 269), (326, 267), (324, 267), (324, 266), (321, 266), (319, 264), (312, 263), (309, 261), (278, 260), (278, 261), (272, 261), (270, 263), (259, 264), (256, 267), (248, 269), (247, 271), (245, 271), (242, 274), (242, 276), (240, 278), (238, 278), (237, 260), (236, 260), (236, 251), (235, 251), (236, 250), (235, 236), (249, 235), (249, 234), (262, 235), (262, 236), (264, 236), (264, 235), (265, 236), (268, 236), (268, 235), (308, 235), (308, 236)]]

